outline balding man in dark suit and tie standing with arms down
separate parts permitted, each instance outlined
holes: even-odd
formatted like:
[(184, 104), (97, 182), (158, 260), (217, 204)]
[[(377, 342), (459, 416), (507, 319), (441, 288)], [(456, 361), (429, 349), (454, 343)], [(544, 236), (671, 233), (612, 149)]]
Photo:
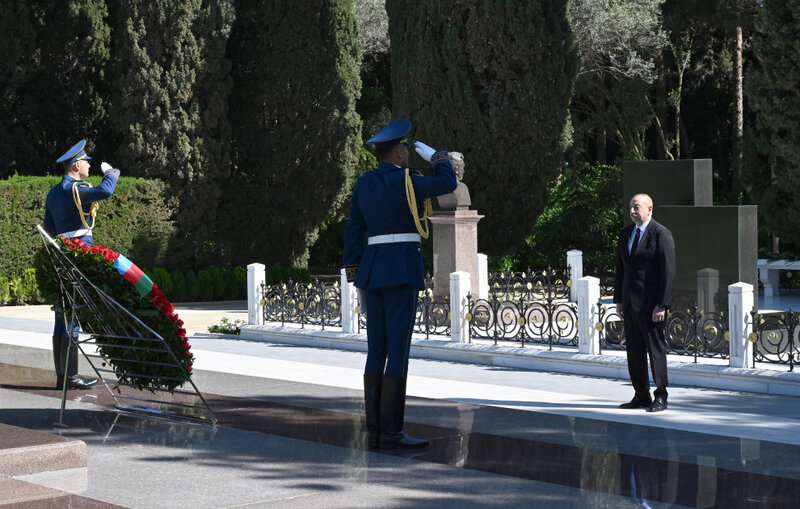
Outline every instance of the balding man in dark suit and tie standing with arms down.
[[(675, 241), (672, 233), (656, 222), (653, 200), (637, 194), (630, 202), (632, 225), (622, 229), (617, 245), (614, 302), (625, 320), (628, 373), (635, 394), (620, 408), (667, 408), (667, 344), (664, 325), (675, 279)], [(656, 390), (650, 399), (647, 355)]]

